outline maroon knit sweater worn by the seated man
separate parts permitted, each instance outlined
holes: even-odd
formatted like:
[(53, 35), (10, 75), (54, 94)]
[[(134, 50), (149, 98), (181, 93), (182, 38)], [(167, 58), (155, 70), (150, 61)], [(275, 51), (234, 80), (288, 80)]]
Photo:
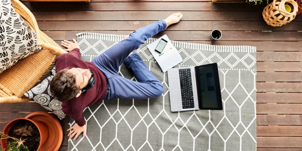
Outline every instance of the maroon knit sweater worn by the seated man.
[(62, 111), (71, 116), (79, 126), (85, 124), (83, 115), (84, 108), (97, 104), (103, 100), (107, 92), (106, 77), (103, 72), (98, 69), (92, 62), (85, 62), (81, 59), (80, 50), (78, 48), (60, 55), (55, 60), (56, 72), (62, 69), (82, 68), (91, 69), (95, 74), (95, 84), (86, 92), (81, 93), (77, 98), (72, 98), (62, 103)]

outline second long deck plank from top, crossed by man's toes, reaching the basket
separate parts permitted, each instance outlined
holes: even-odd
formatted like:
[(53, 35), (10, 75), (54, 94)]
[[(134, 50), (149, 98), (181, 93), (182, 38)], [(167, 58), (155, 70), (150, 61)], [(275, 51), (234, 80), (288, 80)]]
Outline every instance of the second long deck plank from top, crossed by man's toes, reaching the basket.
[[(175, 11), (68, 11), (67, 21), (157, 21)], [(43, 14), (42, 12), (36, 12)], [(120, 15), (119, 15), (120, 14)], [(182, 21), (263, 21), (256, 11), (182, 11)], [(246, 18), (246, 16), (249, 18)], [(100, 17), (102, 16), (102, 17)], [(295, 21), (298, 21), (295, 19)]]

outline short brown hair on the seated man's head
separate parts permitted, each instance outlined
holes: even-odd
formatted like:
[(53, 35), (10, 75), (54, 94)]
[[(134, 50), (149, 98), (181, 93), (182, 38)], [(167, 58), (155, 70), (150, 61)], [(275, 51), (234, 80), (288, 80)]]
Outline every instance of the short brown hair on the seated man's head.
[(50, 92), (61, 102), (74, 98), (80, 90), (76, 85), (76, 75), (68, 69), (56, 73), (50, 82)]

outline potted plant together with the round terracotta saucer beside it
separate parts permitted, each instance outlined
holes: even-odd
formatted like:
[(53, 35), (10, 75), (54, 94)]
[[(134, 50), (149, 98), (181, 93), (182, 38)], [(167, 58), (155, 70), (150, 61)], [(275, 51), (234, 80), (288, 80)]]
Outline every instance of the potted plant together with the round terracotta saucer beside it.
[[(21, 126), (18, 127), (21, 121)], [(23, 123), (23, 125), (22, 125)], [(24, 126), (24, 123), (29, 123), (27, 126)], [(24, 127), (29, 127), (31, 125), (30, 130), (26, 129)], [(33, 128), (36, 128), (36, 133), (31, 134), (33, 137), (36, 137), (33, 139), (31, 136), (27, 136), (27, 132), (24, 134), (26, 136), (16, 136), (11, 133), (14, 132), (14, 130), (17, 129), (17, 133), (20, 131), (31, 131)], [(28, 114), (25, 118), (17, 118), (12, 121), (10, 121), (2, 131), (2, 137), (1, 138), (1, 147), (6, 151), (8, 150), (16, 150), (16, 151), (23, 151), (18, 150), (18, 148), (12, 148), (10, 149), (10, 144), (8, 142), (20, 142), (18, 144), (23, 144), (24, 146), (27, 146), (29, 150), (59, 150), (62, 140), (63, 140), (63, 130), (62, 126), (56, 117), (53, 115), (44, 112), (44, 111), (36, 111)], [(51, 135), (48, 135), (51, 134)], [(22, 135), (22, 134), (21, 134)], [(16, 138), (10, 138), (14, 137)], [(33, 142), (32, 140), (38, 140), (37, 142)], [(20, 148), (21, 145), (18, 145), (17, 147)], [(34, 148), (34, 147), (35, 148)], [(14, 151), (15, 151), (14, 150)], [(2, 150), (1, 150), (2, 151)]]

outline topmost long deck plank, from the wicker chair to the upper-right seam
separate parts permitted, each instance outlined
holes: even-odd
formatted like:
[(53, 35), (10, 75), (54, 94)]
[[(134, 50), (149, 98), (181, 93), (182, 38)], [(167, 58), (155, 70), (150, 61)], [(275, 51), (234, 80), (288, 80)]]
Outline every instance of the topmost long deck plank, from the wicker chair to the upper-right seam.
[(31, 11), (210, 11), (205, 2), (24, 2)]

